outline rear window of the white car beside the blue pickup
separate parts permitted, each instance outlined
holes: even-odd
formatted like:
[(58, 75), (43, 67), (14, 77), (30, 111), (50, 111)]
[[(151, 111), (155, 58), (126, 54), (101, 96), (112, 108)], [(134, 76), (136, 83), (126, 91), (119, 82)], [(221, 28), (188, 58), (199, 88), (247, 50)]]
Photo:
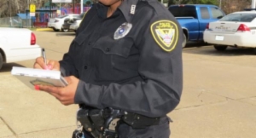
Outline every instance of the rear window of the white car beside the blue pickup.
[(252, 13), (235, 13), (224, 16), (219, 21), (237, 21), (237, 22), (251, 22), (256, 17)]

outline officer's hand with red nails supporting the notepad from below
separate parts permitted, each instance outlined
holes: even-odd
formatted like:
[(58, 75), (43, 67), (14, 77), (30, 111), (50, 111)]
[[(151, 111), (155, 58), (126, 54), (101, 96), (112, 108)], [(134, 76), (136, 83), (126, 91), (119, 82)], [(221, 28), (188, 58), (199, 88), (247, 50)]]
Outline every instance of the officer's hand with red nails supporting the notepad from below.
[(66, 87), (53, 87), (46, 85), (39, 85), (38, 88), (50, 95), (55, 96), (55, 98), (61, 101), (61, 104), (68, 106), (74, 103), (74, 96), (79, 84), (79, 79), (73, 76), (66, 77), (68, 85)]

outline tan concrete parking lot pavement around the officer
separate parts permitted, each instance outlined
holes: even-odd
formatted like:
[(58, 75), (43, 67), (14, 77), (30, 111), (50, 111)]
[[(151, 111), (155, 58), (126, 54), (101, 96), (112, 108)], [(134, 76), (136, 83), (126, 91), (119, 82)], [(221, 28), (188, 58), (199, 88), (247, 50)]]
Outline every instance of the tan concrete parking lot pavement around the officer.
[[(61, 60), (74, 32), (35, 32), (48, 59)], [(34, 60), (3, 65), (0, 71), (0, 138), (70, 138), (78, 106), (62, 106), (51, 95), (27, 88), (10, 75), (12, 66), (32, 67)], [(253, 138), (256, 92), (253, 49), (216, 51), (205, 43), (183, 49), (183, 95), (172, 118), (172, 138)]]

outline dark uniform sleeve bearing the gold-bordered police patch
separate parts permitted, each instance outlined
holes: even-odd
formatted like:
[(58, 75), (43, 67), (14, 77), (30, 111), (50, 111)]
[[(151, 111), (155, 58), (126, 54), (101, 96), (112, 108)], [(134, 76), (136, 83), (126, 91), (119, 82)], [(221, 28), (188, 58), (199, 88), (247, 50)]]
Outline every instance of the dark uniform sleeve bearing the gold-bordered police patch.
[[(160, 33), (156, 33), (158, 31)], [(110, 106), (148, 117), (165, 116), (177, 106), (183, 88), (181, 28), (173, 18), (158, 15), (150, 20), (142, 35), (142, 43), (138, 46), (138, 72), (143, 81), (130, 84), (110, 83), (108, 86), (79, 81), (76, 103), (97, 108)], [(168, 43), (170, 37), (173, 37), (171, 45)]]

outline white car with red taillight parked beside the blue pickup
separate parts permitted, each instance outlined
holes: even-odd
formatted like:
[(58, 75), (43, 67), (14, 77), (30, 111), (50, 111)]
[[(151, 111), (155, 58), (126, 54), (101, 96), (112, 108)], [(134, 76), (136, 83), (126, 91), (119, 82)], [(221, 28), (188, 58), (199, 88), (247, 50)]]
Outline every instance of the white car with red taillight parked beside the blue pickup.
[(228, 46), (256, 48), (256, 11), (241, 11), (228, 14), (210, 22), (203, 33), (205, 43), (212, 43), (217, 50)]

